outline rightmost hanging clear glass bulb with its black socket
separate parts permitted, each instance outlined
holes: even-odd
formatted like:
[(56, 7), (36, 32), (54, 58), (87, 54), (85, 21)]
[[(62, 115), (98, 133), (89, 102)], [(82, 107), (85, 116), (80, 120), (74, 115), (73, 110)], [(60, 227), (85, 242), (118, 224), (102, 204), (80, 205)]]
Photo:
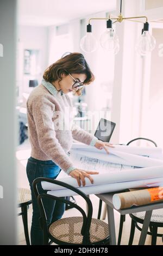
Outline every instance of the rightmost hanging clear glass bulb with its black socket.
[(153, 35), (149, 34), (148, 22), (146, 22), (145, 25), (144, 25), (143, 33), (137, 40), (137, 44), (136, 44), (136, 51), (142, 56), (145, 56), (147, 53), (152, 52), (156, 45), (155, 38), (153, 37)]

